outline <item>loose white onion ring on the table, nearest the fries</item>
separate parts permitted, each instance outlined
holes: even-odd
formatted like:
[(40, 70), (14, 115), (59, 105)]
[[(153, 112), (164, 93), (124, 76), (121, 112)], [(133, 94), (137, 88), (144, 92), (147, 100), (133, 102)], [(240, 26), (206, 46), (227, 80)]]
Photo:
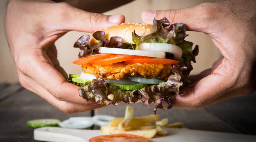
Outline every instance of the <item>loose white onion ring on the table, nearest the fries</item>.
[(116, 117), (108, 115), (95, 115), (92, 117), (92, 122), (97, 126), (106, 126), (108, 122)]

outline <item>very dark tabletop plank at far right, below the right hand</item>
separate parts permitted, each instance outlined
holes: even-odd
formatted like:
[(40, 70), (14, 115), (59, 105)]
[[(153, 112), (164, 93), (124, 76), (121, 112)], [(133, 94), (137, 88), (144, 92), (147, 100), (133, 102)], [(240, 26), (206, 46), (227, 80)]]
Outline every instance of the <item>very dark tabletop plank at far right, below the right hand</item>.
[(245, 134), (256, 135), (256, 92), (205, 109)]

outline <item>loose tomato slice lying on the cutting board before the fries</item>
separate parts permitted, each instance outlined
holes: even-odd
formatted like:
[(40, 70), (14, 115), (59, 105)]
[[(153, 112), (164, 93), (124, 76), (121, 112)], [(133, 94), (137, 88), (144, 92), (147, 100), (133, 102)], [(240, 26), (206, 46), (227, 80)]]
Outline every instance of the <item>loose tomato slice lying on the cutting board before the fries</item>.
[(114, 134), (93, 137), (89, 142), (149, 142), (149, 140), (132, 134)]

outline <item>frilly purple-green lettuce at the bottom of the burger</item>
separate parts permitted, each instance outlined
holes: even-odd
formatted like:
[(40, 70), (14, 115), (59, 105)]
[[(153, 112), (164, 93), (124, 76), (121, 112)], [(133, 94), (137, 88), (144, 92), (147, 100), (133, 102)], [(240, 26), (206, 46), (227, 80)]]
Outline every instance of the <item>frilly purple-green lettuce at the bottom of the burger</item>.
[[(158, 108), (163, 110), (172, 108), (175, 95), (184, 93), (180, 91), (180, 86), (183, 84), (181, 80), (184, 79), (180, 74), (186, 69), (186, 67), (172, 65), (173, 74), (166, 82), (162, 81), (159, 85), (146, 86), (140, 90), (123, 90), (118, 86), (108, 85), (104, 80), (94, 79), (92, 82), (80, 84), (79, 95), (86, 101), (99, 101), (102, 105), (112, 103), (113, 106), (120, 102), (135, 103), (141, 99), (144, 105), (154, 103), (153, 114), (156, 114)], [(112, 100), (108, 98), (110, 94), (113, 94)], [(167, 103), (166, 106), (163, 106), (163, 101)]]

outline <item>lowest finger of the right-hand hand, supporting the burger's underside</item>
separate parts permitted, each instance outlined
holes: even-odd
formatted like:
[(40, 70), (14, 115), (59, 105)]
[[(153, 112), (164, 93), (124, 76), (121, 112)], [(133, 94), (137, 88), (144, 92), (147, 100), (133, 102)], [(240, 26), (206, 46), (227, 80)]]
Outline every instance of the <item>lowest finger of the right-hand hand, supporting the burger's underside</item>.
[(230, 77), (225, 74), (211, 74), (202, 78), (193, 88), (186, 90), (181, 96), (176, 96), (175, 107), (197, 108), (227, 93)]

